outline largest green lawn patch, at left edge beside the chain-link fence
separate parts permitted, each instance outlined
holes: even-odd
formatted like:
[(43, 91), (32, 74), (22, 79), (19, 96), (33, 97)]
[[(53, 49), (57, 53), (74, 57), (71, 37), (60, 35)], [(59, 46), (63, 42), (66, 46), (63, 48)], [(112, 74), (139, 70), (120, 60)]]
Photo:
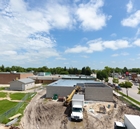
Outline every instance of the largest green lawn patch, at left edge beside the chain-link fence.
[(17, 102), (11, 102), (9, 100), (0, 100), (0, 114), (8, 111), (17, 105)]

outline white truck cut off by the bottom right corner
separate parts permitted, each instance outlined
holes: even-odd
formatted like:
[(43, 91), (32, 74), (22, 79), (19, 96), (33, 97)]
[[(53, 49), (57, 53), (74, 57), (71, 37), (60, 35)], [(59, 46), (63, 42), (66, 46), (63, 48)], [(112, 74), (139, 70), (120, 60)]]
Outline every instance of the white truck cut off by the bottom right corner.
[(140, 129), (140, 116), (138, 115), (124, 115), (124, 123), (115, 122), (115, 129)]

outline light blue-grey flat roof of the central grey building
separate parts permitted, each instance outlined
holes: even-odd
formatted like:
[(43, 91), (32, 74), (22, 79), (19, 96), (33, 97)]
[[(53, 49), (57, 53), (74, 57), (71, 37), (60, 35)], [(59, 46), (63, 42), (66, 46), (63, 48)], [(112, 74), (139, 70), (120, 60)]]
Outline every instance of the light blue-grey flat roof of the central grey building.
[(101, 82), (97, 82), (94, 80), (72, 80), (72, 79), (60, 79), (55, 81), (48, 86), (65, 86), (65, 87), (73, 87), (78, 83), (94, 83), (94, 84), (101, 84)]

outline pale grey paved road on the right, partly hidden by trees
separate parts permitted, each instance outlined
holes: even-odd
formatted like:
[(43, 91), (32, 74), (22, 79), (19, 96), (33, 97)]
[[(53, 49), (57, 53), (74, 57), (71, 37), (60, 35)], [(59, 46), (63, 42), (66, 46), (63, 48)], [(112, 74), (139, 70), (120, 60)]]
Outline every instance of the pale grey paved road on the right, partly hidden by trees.
[[(113, 78), (109, 78), (109, 82), (112, 83), (112, 79)], [(119, 83), (120, 82), (124, 82), (126, 80), (123, 80), (123, 79), (119, 79)], [(124, 94), (126, 94), (126, 89), (125, 88), (122, 88), (122, 92)], [(138, 86), (136, 86), (135, 84), (133, 84), (132, 88), (128, 89), (128, 95), (132, 98), (134, 98), (135, 100), (139, 101), (140, 102), (140, 94), (137, 94), (138, 93)]]

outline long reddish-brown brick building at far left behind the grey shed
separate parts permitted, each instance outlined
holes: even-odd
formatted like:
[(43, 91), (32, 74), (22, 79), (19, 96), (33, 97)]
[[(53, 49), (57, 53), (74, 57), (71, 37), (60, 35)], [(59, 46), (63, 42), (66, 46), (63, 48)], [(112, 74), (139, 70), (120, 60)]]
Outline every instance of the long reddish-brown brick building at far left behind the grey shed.
[(11, 81), (33, 76), (33, 73), (0, 72), (0, 84), (10, 84)]

